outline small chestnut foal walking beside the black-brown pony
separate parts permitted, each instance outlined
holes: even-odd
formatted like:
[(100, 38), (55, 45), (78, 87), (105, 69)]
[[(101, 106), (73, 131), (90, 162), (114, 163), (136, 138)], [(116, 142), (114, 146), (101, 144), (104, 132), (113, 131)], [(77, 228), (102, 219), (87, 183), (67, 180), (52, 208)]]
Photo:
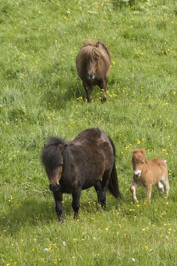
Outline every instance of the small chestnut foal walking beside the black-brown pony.
[(136, 189), (139, 187), (145, 188), (146, 198), (150, 201), (152, 185), (155, 185), (161, 194), (164, 188), (168, 196), (168, 169), (165, 160), (153, 158), (147, 161), (144, 148), (134, 149), (132, 164), (134, 173), (130, 191), (134, 201), (138, 202), (136, 198)]

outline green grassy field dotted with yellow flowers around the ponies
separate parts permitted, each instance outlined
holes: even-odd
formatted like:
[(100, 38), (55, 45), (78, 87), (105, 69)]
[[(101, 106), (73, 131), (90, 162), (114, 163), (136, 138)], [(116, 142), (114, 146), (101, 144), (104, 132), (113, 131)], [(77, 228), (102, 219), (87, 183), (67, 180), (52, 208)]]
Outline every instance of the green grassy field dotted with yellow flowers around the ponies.
[[(9, 0), (0, 13), (0, 265), (177, 265), (176, 1)], [(77, 76), (89, 38), (111, 52), (106, 103), (98, 88), (86, 103)], [(101, 209), (83, 191), (74, 221), (64, 195), (58, 224), (41, 150), (90, 127), (113, 139), (122, 198)], [(168, 198), (139, 189), (132, 202), (133, 148), (168, 161)]]

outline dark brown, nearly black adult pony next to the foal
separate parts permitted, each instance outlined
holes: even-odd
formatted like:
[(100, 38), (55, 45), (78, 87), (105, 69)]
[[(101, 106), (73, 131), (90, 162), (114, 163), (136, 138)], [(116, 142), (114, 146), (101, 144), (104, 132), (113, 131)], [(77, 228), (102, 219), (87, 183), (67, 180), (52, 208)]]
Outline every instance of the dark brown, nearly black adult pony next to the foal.
[(120, 197), (113, 141), (98, 128), (82, 131), (73, 141), (50, 137), (42, 151), (42, 163), (53, 192), (59, 222), (63, 222), (63, 193), (72, 193), (74, 218), (78, 217), (81, 191), (92, 186), (101, 206), (109, 189)]

